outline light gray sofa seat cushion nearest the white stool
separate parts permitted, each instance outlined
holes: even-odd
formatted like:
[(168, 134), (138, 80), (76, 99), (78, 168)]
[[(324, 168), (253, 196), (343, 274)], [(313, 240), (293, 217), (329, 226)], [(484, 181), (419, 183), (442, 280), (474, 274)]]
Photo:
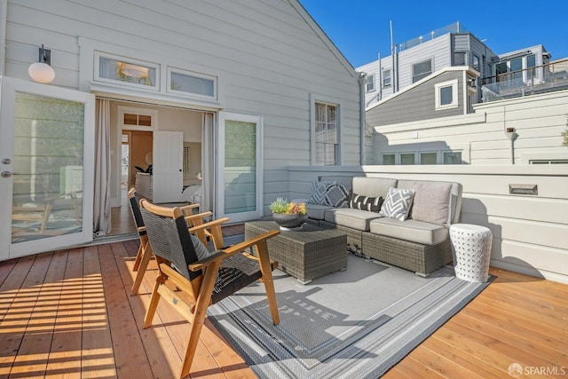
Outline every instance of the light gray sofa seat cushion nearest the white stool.
[(390, 217), (375, 218), (369, 224), (370, 232), (400, 240), (435, 245), (450, 237), (448, 229), (441, 225), (408, 219), (399, 221)]

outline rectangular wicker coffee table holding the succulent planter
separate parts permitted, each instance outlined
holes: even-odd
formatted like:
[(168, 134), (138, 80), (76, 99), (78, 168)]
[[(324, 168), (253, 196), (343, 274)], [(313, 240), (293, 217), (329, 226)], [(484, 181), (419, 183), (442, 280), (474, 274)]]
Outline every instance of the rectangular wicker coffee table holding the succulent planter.
[[(280, 229), (273, 221), (245, 223), (245, 240)], [(312, 279), (347, 268), (347, 235), (304, 224), (301, 231), (281, 231), (267, 241), (278, 268), (306, 284)]]

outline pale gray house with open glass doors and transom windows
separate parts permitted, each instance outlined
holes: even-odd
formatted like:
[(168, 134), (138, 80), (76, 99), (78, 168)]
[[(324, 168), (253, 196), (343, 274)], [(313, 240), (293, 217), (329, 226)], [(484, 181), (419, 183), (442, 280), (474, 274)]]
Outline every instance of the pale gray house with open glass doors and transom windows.
[[(0, 259), (106, 233), (134, 166), (153, 165), (155, 202), (202, 186), (202, 209), (236, 222), (288, 193), (290, 165), (361, 163), (359, 73), (298, 1), (245, 3), (0, 0), (0, 148), (18, 174), (0, 180)], [(50, 84), (28, 76), (42, 45)], [(66, 207), (65, 228), (26, 229)]]

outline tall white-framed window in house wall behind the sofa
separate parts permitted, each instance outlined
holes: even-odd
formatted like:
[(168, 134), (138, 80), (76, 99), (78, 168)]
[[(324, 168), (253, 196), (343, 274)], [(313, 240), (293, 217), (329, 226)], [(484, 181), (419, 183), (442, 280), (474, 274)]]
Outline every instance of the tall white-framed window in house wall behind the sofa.
[(338, 107), (315, 103), (315, 163), (325, 166), (339, 164)]

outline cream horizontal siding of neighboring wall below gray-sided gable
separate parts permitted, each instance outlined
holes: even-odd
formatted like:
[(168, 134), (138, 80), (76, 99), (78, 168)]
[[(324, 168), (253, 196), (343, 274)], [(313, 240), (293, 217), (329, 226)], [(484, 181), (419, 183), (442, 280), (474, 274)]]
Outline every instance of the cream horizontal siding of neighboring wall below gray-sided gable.
[(546, 159), (547, 154), (548, 159), (568, 159), (561, 137), (566, 127), (568, 91), (478, 104), (475, 109), (475, 114), (375, 127), (375, 162), (380, 162), (381, 153), (401, 148), (426, 151), (431, 146), (468, 146), (471, 164), (507, 164), (511, 162), (507, 128), (517, 130), (516, 163), (526, 164), (533, 157)]

